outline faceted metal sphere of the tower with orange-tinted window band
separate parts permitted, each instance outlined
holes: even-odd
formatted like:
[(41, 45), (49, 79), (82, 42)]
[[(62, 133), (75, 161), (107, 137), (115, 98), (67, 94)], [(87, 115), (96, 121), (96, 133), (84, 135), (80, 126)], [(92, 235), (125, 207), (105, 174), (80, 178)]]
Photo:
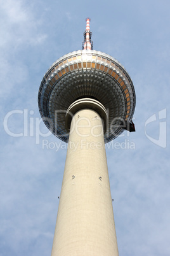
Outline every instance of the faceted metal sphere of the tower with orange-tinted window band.
[(65, 142), (69, 132), (65, 115), (77, 99), (92, 98), (107, 110), (105, 143), (124, 131), (119, 120), (131, 122), (136, 98), (128, 72), (106, 53), (78, 50), (56, 60), (39, 87), (38, 104), (42, 120), (56, 137)]

